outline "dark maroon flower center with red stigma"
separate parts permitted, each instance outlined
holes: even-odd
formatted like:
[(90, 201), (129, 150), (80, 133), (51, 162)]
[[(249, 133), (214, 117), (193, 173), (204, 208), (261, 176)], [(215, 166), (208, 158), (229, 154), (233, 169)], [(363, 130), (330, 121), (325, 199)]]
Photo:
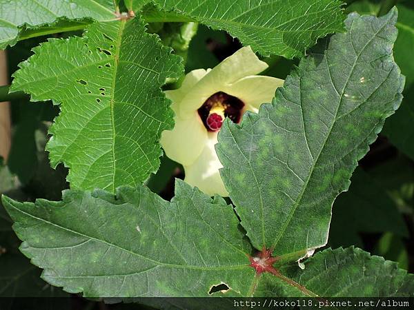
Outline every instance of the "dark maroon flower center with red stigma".
[(216, 92), (208, 97), (198, 110), (198, 114), (209, 132), (217, 132), (228, 117), (235, 123), (242, 120), (244, 103), (225, 92)]

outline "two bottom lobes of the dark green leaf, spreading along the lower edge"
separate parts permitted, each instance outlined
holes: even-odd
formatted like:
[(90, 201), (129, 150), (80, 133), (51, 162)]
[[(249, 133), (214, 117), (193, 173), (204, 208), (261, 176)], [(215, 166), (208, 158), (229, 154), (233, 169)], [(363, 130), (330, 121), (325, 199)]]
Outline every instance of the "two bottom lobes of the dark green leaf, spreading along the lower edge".
[(116, 198), (72, 190), (57, 203), (3, 204), (42, 278), (83, 296), (208, 296), (221, 283), (230, 296), (413, 295), (413, 275), (353, 248), (322, 251), (304, 270), (280, 262), (279, 276), (255, 276), (233, 209), (180, 180), (171, 203), (121, 187)]

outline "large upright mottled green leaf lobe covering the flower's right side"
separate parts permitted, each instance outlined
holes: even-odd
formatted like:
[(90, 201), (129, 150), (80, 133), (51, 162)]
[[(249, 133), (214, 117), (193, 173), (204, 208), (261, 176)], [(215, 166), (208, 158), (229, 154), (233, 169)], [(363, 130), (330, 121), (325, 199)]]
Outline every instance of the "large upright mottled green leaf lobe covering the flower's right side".
[(272, 104), (224, 123), (221, 177), (255, 248), (303, 255), (326, 244), (333, 201), (402, 99), (396, 19), (350, 14), (348, 32), (302, 60)]

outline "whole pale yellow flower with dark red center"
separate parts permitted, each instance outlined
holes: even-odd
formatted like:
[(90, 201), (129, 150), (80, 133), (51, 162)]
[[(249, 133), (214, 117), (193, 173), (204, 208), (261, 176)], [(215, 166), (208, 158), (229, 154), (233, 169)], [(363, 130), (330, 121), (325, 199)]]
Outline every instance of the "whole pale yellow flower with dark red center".
[(189, 72), (181, 87), (166, 91), (175, 112), (175, 127), (161, 135), (166, 155), (185, 170), (185, 181), (206, 194), (228, 196), (215, 152), (217, 134), (225, 117), (239, 123), (246, 110), (257, 112), (273, 99), (284, 81), (256, 76), (268, 68), (250, 47), (241, 48), (213, 70)]

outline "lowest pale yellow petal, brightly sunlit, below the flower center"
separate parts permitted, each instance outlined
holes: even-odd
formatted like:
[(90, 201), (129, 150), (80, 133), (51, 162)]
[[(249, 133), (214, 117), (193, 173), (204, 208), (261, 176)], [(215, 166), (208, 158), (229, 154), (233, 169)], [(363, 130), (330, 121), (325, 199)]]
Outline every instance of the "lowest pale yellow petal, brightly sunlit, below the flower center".
[(228, 196), (226, 187), (221, 180), (219, 169), (223, 167), (215, 152), (217, 132), (209, 133), (208, 142), (203, 152), (193, 165), (184, 165), (186, 178), (184, 180), (191, 186), (197, 186), (202, 192), (213, 196)]

